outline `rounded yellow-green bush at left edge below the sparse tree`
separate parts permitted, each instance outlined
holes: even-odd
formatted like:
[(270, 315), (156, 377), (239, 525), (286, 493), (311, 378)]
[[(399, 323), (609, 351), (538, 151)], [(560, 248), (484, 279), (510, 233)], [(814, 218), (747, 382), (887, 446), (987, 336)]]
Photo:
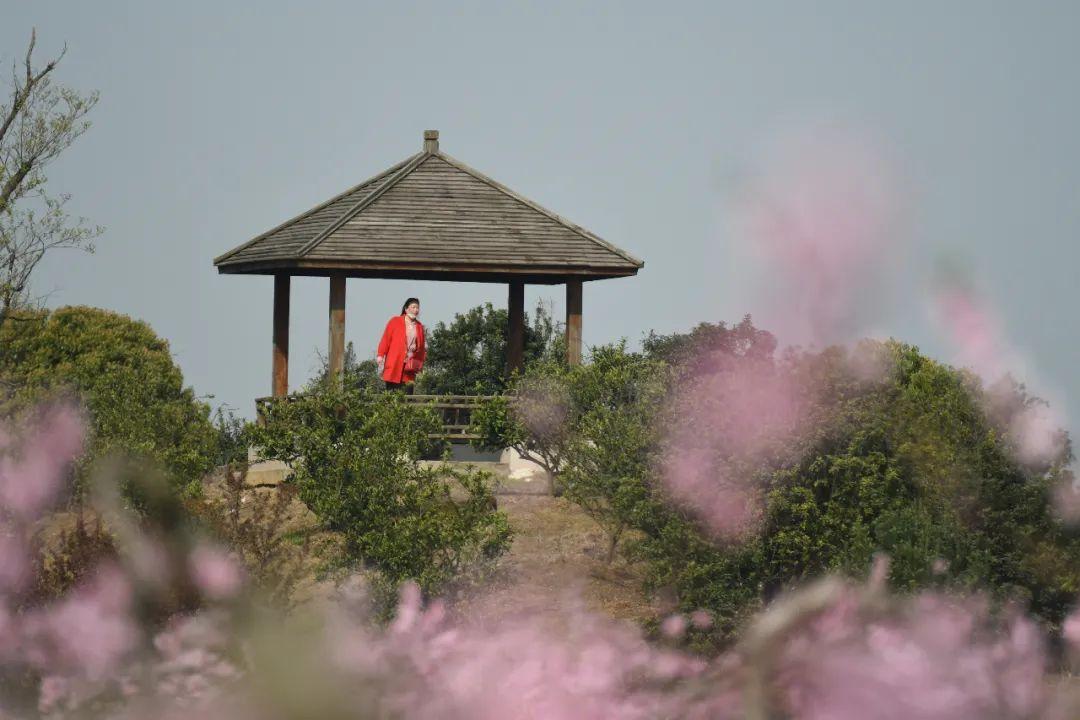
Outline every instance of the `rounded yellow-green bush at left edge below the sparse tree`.
[(143, 322), (95, 308), (33, 311), (0, 326), (0, 417), (22, 417), (73, 393), (90, 415), (79, 463), (85, 478), (114, 453), (160, 465), (174, 487), (194, 487), (213, 467), (210, 408), (184, 386), (168, 343)]

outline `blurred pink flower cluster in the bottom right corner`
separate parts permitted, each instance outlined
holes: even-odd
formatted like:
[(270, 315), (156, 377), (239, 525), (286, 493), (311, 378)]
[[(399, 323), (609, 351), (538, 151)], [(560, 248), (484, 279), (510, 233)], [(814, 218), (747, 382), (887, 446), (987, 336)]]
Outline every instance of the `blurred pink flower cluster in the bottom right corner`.
[(806, 720), (1038, 717), (1047, 701), (1038, 630), (1018, 616), (1003, 634), (989, 626), (984, 603), (934, 596), (899, 616), (815, 623), (781, 661), (789, 709)]

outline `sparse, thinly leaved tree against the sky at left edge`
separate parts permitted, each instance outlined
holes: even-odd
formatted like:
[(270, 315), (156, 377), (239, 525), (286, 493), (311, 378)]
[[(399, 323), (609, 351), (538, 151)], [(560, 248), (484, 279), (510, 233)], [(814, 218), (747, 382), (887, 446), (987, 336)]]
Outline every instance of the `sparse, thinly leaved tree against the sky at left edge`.
[(90, 127), (97, 93), (52, 82), (67, 49), (35, 67), (37, 33), (22, 68), (12, 68), (10, 99), (0, 105), (0, 323), (30, 301), (30, 276), (49, 250), (93, 252), (100, 228), (65, 212), (69, 196), (45, 190), (45, 168)]

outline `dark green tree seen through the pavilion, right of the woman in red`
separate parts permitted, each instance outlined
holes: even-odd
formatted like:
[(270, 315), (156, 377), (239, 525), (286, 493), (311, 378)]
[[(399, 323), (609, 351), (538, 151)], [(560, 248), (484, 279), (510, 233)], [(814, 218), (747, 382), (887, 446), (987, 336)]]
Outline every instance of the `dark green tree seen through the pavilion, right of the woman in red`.
[[(437, 395), (495, 395), (507, 388), (509, 315), (490, 302), (428, 330), (428, 359), (418, 389)], [(562, 326), (541, 303), (525, 314), (525, 367), (566, 355)]]

